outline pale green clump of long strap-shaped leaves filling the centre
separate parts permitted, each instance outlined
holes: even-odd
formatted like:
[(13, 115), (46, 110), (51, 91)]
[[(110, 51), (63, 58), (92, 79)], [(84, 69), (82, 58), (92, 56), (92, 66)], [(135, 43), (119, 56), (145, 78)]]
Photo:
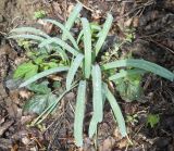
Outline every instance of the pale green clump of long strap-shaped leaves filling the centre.
[[(63, 52), (67, 58), (69, 63), (66, 66), (61, 65), (40, 72), (26, 79), (20, 87), (26, 87), (50, 74), (67, 72), (64, 92), (49, 103), (42, 112), (39, 111), (39, 116), (32, 123), (32, 125), (41, 123), (52, 111), (54, 111), (55, 106), (66, 92), (78, 87), (74, 119), (74, 138), (76, 146), (78, 147), (83, 146), (85, 109), (86, 103), (88, 103), (87, 101), (90, 98), (87, 96), (88, 89), (92, 90), (94, 109), (88, 129), (89, 137), (92, 138), (97, 134), (98, 124), (101, 123), (103, 118), (105, 101), (110, 103), (120, 131), (122, 136), (125, 137), (127, 136), (125, 121), (121, 108), (112, 93), (113, 89), (111, 89), (110, 84), (114, 81), (117, 87), (117, 80), (126, 78), (127, 76), (134, 76), (136, 85), (136, 78), (138, 77), (136, 75), (145, 74), (146, 72), (151, 72), (170, 80), (174, 79), (173, 73), (145, 60), (123, 59), (108, 62), (105, 64), (102, 63), (102, 52), (100, 52), (100, 50), (105, 41), (113, 17), (111, 14), (107, 15), (102, 28), (95, 30), (96, 36), (94, 38), (91, 24), (87, 18), (78, 17), (80, 10), (82, 5), (78, 3), (64, 25), (53, 20), (44, 20), (45, 22), (54, 24), (62, 30), (62, 35), (59, 36), (60, 38), (50, 37), (44, 32), (32, 27), (15, 28), (10, 33), (11, 36), (9, 37), (15, 39), (25, 38), (37, 41), (39, 48), (45, 48), (48, 51), (54, 48), (58, 53)], [(77, 17), (82, 22), (83, 28), (76, 40), (72, 36), (70, 29)], [(90, 88), (90, 86), (92, 86), (92, 88)]]

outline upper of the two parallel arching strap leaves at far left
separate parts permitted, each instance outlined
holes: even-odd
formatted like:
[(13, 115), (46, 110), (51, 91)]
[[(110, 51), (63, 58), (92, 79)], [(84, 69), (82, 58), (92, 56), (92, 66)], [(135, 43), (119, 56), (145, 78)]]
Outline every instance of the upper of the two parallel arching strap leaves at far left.
[(10, 32), (10, 34), (12, 33), (32, 33), (35, 35), (39, 35), (42, 36), (45, 38), (50, 38), (50, 36), (48, 36), (46, 33), (44, 33), (40, 29), (34, 28), (34, 27), (18, 27), (18, 28), (14, 28)]

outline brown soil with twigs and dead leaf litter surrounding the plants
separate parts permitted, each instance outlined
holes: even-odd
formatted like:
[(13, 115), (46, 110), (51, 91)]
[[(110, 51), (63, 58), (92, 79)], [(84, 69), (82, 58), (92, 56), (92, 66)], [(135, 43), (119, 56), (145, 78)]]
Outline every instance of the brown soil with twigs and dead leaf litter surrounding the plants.
[[(173, 0), (82, 2), (86, 8), (82, 15), (91, 21), (103, 22), (105, 12), (111, 11), (114, 16), (111, 35), (116, 34), (116, 38), (125, 38), (126, 28), (135, 29), (135, 40), (123, 45), (121, 48), (123, 52), (133, 52), (135, 58), (146, 59), (174, 71)], [(18, 89), (18, 84), (12, 79), (13, 71), (25, 60), (25, 55), (24, 50), (15, 41), (7, 39), (8, 33), (24, 24), (36, 26), (37, 21), (33, 20), (33, 16), (37, 10), (45, 10), (47, 17), (65, 21), (75, 3), (73, 0), (0, 1), (0, 151), (97, 150), (87, 134), (84, 134), (83, 149), (77, 149), (74, 144), (72, 130), (74, 92), (64, 98), (66, 101), (62, 101), (59, 112), (44, 122), (41, 127), (28, 127), (27, 124), (36, 115), (24, 114), (22, 106), (30, 93), (25, 89)], [(137, 123), (127, 122), (129, 140), (121, 137), (112, 112), (105, 108), (97, 139), (99, 151), (174, 150), (174, 83), (148, 75), (144, 78), (144, 89), (145, 96), (139, 101), (126, 103), (119, 100), (124, 115), (137, 114)], [(160, 122), (154, 128), (146, 124), (149, 113), (160, 116)]]

